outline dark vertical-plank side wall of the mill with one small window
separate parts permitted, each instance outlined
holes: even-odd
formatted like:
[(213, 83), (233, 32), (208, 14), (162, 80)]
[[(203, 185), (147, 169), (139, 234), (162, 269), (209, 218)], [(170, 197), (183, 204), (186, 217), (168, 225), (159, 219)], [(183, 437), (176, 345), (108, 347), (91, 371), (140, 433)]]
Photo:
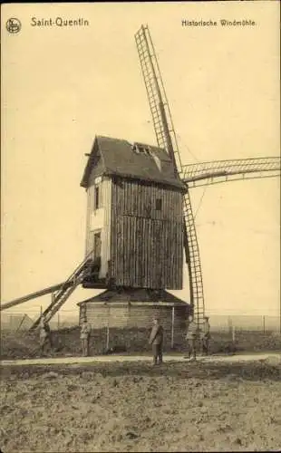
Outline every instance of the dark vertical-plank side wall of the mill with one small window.
[[(157, 199), (160, 210), (156, 210)], [(114, 178), (111, 219), (116, 285), (182, 288), (182, 194), (178, 189)]]

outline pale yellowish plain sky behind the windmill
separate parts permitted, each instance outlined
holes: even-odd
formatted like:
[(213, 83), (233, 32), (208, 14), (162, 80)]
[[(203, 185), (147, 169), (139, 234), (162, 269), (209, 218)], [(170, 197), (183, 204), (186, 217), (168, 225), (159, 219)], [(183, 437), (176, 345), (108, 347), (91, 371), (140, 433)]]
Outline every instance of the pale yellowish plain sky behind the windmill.
[[(2, 9), (1, 301), (71, 275), (83, 259), (94, 136), (155, 144), (134, 34), (148, 24), (183, 163), (279, 156), (277, 2), (23, 4)], [(89, 26), (34, 27), (31, 18)], [(9, 17), (19, 34), (5, 29)], [(251, 19), (255, 26), (182, 26)], [(190, 190), (208, 313), (279, 313), (280, 180)], [(173, 292), (189, 302), (189, 280)], [(63, 316), (98, 294), (77, 289)], [(36, 315), (47, 295), (6, 313)]]

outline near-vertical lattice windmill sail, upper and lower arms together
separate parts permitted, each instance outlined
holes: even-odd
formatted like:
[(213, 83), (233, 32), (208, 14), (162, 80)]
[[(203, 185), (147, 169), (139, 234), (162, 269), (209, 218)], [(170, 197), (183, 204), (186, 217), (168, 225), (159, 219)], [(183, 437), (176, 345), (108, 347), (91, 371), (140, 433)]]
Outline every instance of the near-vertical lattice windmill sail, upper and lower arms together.
[[(166, 149), (169, 153), (170, 159), (172, 159), (174, 163), (175, 172), (178, 173), (180, 178), (182, 165), (179, 156), (178, 142), (148, 26), (141, 25), (140, 30), (135, 34), (135, 40), (140, 57), (141, 71), (150, 103), (156, 139), (159, 147)], [(199, 244), (188, 188), (185, 193), (183, 205), (183, 235), (186, 262), (189, 268), (190, 304), (193, 307), (193, 313), (197, 323), (202, 323), (205, 311), (203, 280), (199, 257)]]

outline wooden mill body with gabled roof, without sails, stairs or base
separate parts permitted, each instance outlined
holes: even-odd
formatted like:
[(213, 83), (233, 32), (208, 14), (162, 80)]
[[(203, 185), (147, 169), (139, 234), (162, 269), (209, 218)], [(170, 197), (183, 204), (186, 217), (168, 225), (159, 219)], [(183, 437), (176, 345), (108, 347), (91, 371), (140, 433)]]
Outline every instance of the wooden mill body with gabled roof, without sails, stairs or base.
[(181, 289), (184, 184), (164, 149), (96, 137), (87, 190), (84, 287)]

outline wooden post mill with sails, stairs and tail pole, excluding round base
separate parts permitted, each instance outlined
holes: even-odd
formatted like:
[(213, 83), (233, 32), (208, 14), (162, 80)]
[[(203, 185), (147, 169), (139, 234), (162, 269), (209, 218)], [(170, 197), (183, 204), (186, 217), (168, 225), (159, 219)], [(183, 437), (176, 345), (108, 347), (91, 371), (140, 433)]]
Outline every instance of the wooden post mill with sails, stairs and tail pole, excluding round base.
[[(280, 176), (277, 157), (183, 165), (148, 26), (141, 25), (135, 42), (158, 147), (96, 137), (87, 154), (81, 184), (88, 198), (85, 258), (62, 284), (2, 304), (1, 310), (52, 294), (52, 302), (44, 311), (50, 320), (79, 284), (116, 291), (144, 287), (152, 293), (164, 288), (181, 289), (184, 250), (189, 301), (199, 324), (205, 302), (189, 189), (243, 178)], [(172, 212), (174, 206), (179, 207), (176, 213)], [(143, 245), (146, 242), (147, 248)], [(40, 317), (32, 329), (40, 323)]]

